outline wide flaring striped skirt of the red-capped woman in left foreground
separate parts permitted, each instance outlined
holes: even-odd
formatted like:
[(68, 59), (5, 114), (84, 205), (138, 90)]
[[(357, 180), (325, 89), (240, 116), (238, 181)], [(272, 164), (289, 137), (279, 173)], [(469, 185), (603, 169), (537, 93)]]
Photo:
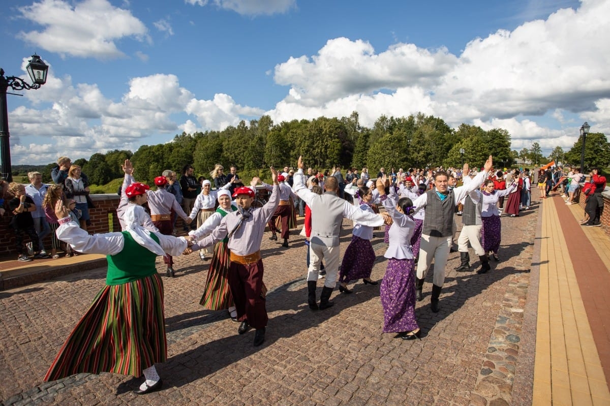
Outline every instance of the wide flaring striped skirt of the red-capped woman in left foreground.
[(155, 272), (102, 288), (63, 343), (45, 381), (81, 372), (139, 377), (166, 359), (163, 282)]

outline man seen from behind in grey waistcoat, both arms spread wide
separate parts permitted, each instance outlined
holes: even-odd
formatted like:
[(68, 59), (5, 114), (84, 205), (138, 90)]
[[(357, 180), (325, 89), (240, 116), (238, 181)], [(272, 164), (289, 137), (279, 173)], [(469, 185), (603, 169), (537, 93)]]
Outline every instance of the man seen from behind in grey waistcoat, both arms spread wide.
[(320, 294), (320, 309), (331, 307), (329, 302), (332, 290), (337, 285), (337, 271), (339, 269), (339, 233), (343, 218), (356, 220), (360, 224), (379, 227), (389, 222), (386, 213), (377, 215), (365, 212), (354, 207), (350, 202), (339, 198), (339, 182), (335, 177), (329, 176), (324, 183), (326, 192), (316, 194), (307, 189), (303, 174), (303, 157), (299, 157), (298, 172), (295, 174), (293, 190), (305, 201), (311, 209), (311, 235), (309, 240), (310, 263), (307, 272), (307, 304), (311, 310), (318, 310), (315, 298), (316, 283), (320, 263), (326, 264), (326, 278), (324, 288)]

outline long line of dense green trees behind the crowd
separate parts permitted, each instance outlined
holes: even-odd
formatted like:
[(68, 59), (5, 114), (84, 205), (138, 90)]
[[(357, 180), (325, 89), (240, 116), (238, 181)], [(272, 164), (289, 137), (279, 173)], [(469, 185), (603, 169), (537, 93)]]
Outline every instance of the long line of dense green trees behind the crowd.
[[(556, 162), (580, 164), (581, 139), (569, 152), (557, 147), (550, 159)], [(109, 151), (93, 154), (88, 160), (74, 160), (80, 165), (90, 182), (104, 185), (123, 176), (121, 164), (132, 160), (138, 180), (152, 182), (163, 170), (181, 173), (190, 164), (196, 174), (206, 176), (214, 165), (231, 165), (239, 171), (249, 171), (265, 177), (269, 166), (281, 168), (295, 166), (303, 155), (307, 166), (325, 169), (367, 166), (371, 173), (381, 168), (432, 168), (443, 166), (483, 166), (489, 155), (497, 166), (512, 166), (517, 158), (530, 158), (538, 165), (546, 158), (540, 153), (540, 145), (531, 149), (511, 150), (511, 135), (505, 129), (483, 130), (470, 124), (452, 129), (441, 118), (424, 115), (408, 117), (380, 116), (368, 128), (361, 126), (357, 112), (349, 117), (301, 119), (274, 124), (270, 116), (241, 121), (237, 127), (224, 130), (208, 130), (195, 134), (176, 135), (170, 143), (143, 145), (131, 151)], [(534, 162), (536, 161), (536, 162)], [(586, 166), (610, 165), (610, 144), (605, 135), (587, 135)], [(49, 164), (50, 174), (52, 166)], [(45, 173), (46, 177), (46, 173)]]

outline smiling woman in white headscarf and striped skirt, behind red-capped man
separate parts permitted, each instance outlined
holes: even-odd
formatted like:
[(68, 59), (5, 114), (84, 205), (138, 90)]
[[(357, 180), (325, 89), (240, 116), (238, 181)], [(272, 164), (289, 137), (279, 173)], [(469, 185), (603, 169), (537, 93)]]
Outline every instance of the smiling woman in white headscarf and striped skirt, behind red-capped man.
[[(228, 190), (218, 191), (218, 204), (220, 205), (216, 211), (207, 218), (205, 223), (201, 224), (196, 230), (189, 232), (188, 235), (191, 235), (195, 240), (201, 240), (220, 225), (224, 216), (237, 210), (237, 207), (231, 205), (231, 193)], [(229, 261), (229, 250), (227, 249), (228, 241), (229, 238), (225, 238), (214, 246), (210, 269), (207, 271), (206, 286), (199, 304), (209, 310), (228, 309), (231, 319), (237, 321), (237, 311), (227, 280), (231, 263)]]

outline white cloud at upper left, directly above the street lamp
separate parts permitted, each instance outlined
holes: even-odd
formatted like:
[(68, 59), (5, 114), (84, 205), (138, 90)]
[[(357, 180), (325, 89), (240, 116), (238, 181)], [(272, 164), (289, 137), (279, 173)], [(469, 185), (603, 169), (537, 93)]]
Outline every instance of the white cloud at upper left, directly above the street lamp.
[(44, 27), (20, 32), (19, 37), (38, 49), (63, 56), (116, 59), (124, 54), (115, 41), (124, 37), (149, 41), (142, 21), (107, 0), (85, 0), (74, 6), (62, 0), (42, 0), (19, 11), (23, 18)]

